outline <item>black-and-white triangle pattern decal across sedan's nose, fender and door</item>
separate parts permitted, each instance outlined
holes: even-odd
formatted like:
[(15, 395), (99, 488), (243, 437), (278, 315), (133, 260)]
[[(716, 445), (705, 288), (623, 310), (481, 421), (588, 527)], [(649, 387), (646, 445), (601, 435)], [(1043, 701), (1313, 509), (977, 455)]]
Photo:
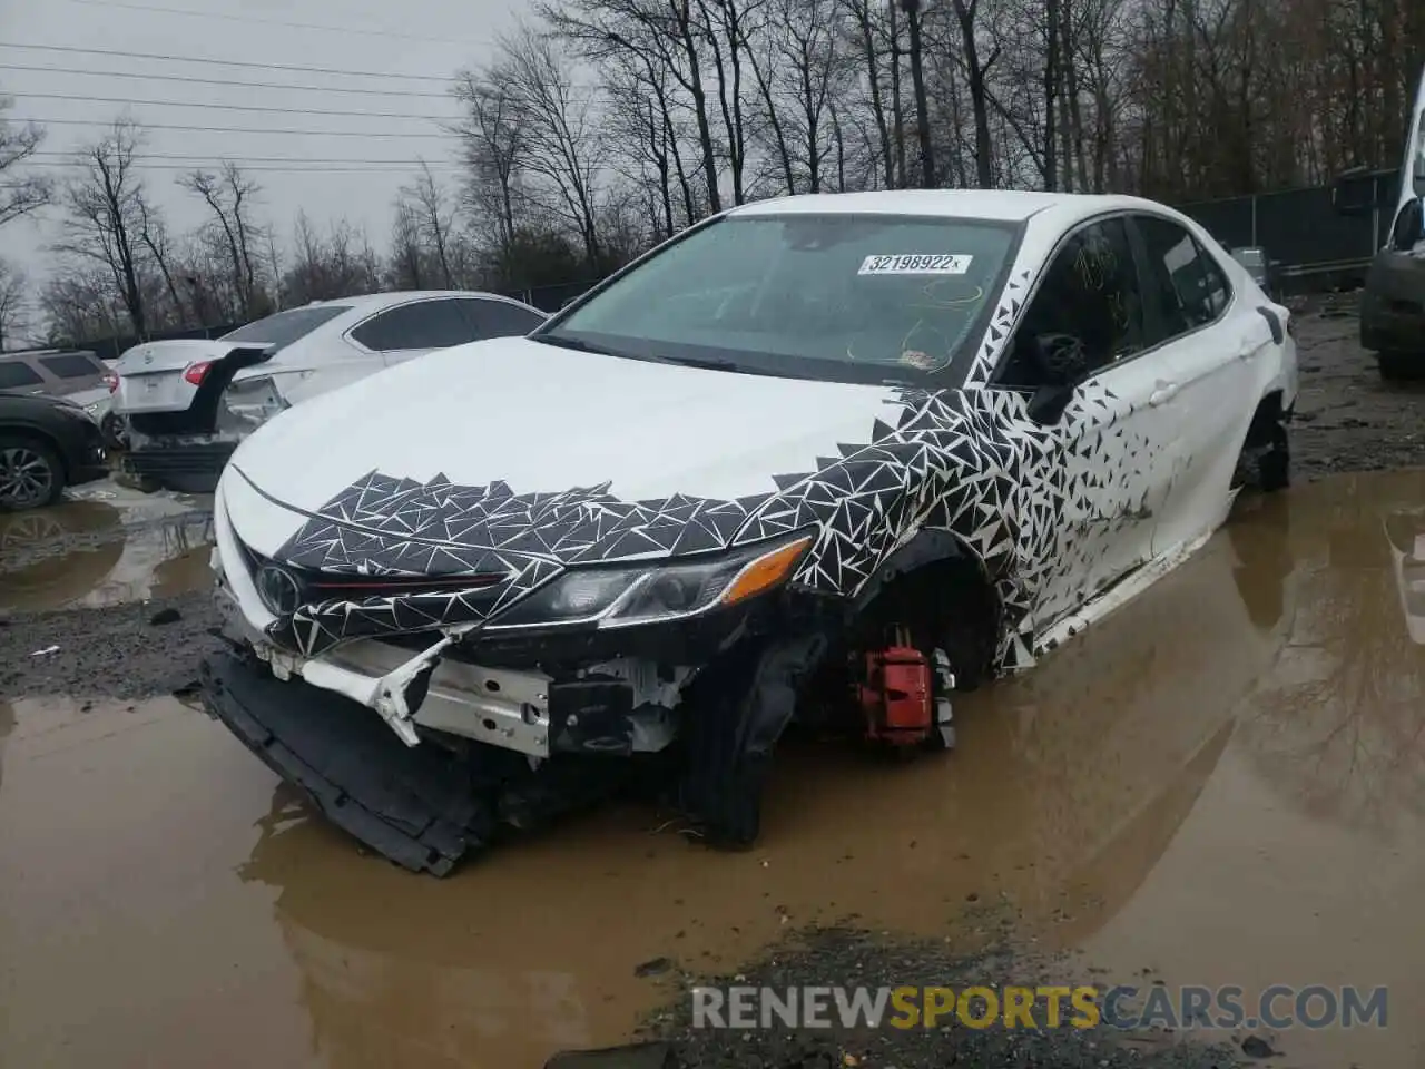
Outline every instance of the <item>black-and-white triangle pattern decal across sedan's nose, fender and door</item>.
[[(1150, 483), (1153, 445), (1124, 429), (1131, 409), (1082, 386), (1072, 418), (1042, 426), (1027, 398), (978, 388), (998, 365), (1027, 285), (1016, 272), (975, 356), (966, 389), (888, 389), (895, 426), (838, 446), (815, 470), (775, 475), (737, 500), (690, 495), (626, 502), (610, 485), (516, 493), (503, 482), (420, 483), (372, 472), (335, 496), (274, 553), (342, 576), (480, 576), (482, 586), (302, 606), (269, 636), (314, 656), (343, 639), (483, 623), (570, 566), (678, 557), (798, 529), (817, 542), (794, 582), (854, 594), (919, 530), (955, 534), (985, 567), (1002, 603), (1002, 667), (1026, 661), (1027, 630), (1045, 604), (1072, 609), (1090, 557), (1133, 522)], [(1157, 476), (1161, 479), (1161, 475)], [(1040, 620), (1040, 623), (1043, 623)]]

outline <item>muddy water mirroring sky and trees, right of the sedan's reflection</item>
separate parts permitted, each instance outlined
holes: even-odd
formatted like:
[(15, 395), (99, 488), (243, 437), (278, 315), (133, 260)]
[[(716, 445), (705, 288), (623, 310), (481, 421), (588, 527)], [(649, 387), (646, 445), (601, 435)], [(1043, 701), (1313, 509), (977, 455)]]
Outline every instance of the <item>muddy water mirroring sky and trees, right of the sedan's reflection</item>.
[(1389, 988), (1388, 1029), (1292, 1029), (1275, 1040), (1291, 1065), (1425, 1063), (1422, 503), (1421, 472), (1292, 495), (1280, 653), (1170, 849), (1086, 942), (1099, 964), (1248, 999)]

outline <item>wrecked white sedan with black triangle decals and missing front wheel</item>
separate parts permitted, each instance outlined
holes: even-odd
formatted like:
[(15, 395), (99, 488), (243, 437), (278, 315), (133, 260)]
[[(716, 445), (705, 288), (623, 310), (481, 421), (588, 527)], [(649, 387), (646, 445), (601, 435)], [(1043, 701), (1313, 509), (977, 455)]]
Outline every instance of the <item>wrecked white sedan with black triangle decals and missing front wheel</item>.
[(949, 744), (1287, 483), (1295, 396), (1290, 312), (1160, 204), (742, 205), (248, 438), (205, 703), (412, 869), (650, 760), (745, 845), (791, 720)]

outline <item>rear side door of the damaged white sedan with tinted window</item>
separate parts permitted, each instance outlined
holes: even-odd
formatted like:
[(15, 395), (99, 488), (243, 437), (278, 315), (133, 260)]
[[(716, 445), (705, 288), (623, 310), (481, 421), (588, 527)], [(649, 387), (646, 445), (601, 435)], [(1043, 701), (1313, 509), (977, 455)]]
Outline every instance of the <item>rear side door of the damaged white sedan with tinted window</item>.
[(1227, 517), (1233, 469), (1258, 401), (1254, 362), (1275, 341), (1251, 295), (1233, 294), (1223, 265), (1188, 228), (1147, 212), (1131, 222), (1147, 298), (1149, 399), (1173, 442), (1153, 532), (1153, 556), (1164, 556)]

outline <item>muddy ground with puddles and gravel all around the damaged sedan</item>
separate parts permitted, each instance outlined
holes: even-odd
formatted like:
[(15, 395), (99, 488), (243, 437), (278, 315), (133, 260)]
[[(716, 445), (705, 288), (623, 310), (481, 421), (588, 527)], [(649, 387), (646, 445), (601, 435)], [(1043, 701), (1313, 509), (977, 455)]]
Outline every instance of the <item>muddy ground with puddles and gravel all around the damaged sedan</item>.
[[(190, 708), (202, 499), (100, 486), (0, 517), (0, 1063), (520, 1066), (640, 1021), (688, 1066), (1418, 1063), (1425, 671), (1379, 532), (1425, 476), (1342, 473), (1425, 465), (1425, 389), (1320, 311), (1301, 489), (968, 696), (952, 768), (789, 748), (742, 855), (616, 808), (449, 881), (361, 857)], [(1389, 982), (1398, 1009), (1388, 1039), (693, 1031), (683, 989), (715, 976)]]

